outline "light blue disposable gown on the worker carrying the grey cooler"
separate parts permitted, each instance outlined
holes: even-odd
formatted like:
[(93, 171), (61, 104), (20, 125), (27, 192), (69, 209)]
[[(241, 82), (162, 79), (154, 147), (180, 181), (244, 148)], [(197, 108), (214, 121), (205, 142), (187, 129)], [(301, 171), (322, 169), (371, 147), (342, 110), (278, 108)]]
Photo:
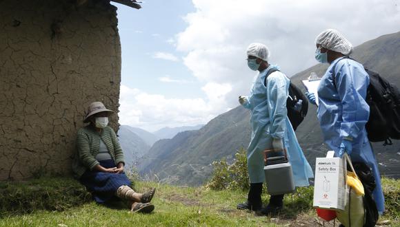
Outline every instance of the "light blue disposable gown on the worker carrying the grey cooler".
[(250, 182), (265, 181), (263, 151), (272, 149), (272, 138), (283, 138), (283, 145), (288, 150), (288, 158), (292, 164), (295, 186), (308, 186), (308, 178), (314, 175), (287, 116), (286, 99), (290, 80), (277, 71), (268, 76), (265, 86), (266, 74), (272, 67), (254, 78), (250, 96), (247, 96), (248, 102), (243, 104), (243, 107), (251, 111), (252, 137), (247, 154)]

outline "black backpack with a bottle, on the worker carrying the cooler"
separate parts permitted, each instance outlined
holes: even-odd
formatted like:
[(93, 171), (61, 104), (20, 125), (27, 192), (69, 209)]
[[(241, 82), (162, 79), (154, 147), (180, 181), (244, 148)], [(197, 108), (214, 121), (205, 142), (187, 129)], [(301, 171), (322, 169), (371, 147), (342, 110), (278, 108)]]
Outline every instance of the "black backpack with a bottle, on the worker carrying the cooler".
[[(272, 74), (272, 72), (276, 71), (279, 70), (272, 68), (268, 71), (266, 79), (264, 80), (265, 86), (267, 85), (267, 77)], [(302, 100), (301, 109), (297, 110), (296, 108), (294, 108), (294, 105), (296, 105), (299, 100)], [(293, 130), (296, 130), (307, 115), (308, 99), (306, 98), (306, 96), (304, 96), (299, 87), (296, 87), (296, 85), (292, 83), (292, 81), (290, 81), (289, 85), (289, 97), (286, 100), (286, 109), (288, 109), (288, 118), (290, 120), (290, 123), (292, 124)]]

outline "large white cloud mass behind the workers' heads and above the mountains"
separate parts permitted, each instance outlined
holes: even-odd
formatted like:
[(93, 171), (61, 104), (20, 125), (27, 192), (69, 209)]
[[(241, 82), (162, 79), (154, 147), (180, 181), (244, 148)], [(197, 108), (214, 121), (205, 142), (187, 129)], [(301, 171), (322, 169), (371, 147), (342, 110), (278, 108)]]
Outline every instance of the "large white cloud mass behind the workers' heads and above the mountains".
[[(195, 12), (184, 17), (188, 26), (168, 39), (183, 52), (183, 63), (199, 80), (205, 98), (174, 99), (121, 87), (121, 124), (153, 130), (165, 126), (206, 123), (236, 107), (246, 95), (255, 72), (246, 64), (250, 43), (265, 43), (270, 63), (292, 76), (317, 63), (314, 39), (327, 28), (343, 33), (354, 45), (398, 32), (398, 0), (192, 0)], [(158, 52), (154, 58), (179, 61)], [(164, 76), (159, 80), (179, 83)]]

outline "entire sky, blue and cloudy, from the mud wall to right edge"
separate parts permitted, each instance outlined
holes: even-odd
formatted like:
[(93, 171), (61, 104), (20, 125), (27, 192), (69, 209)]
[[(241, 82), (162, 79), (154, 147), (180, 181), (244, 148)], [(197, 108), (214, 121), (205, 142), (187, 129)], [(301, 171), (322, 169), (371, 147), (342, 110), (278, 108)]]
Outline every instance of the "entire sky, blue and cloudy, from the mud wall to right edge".
[[(400, 0), (149, 0), (117, 6), (122, 68), (119, 123), (156, 131), (206, 124), (237, 107), (264, 43), (288, 76), (317, 64), (315, 37), (339, 30), (354, 45), (400, 30)], [(319, 75), (321, 76), (321, 75)]]

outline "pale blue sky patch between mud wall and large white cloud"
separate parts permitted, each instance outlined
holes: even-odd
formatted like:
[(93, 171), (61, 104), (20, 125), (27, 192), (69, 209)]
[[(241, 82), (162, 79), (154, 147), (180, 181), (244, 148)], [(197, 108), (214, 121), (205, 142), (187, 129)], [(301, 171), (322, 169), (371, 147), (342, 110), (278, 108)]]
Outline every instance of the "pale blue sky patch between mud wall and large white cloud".
[[(196, 78), (183, 65), (185, 53), (177, 52), (171, 43), (175, 34), (185, 30), (183, 17), (194, 11), (192, 2), (150, 0), (141, 3), (140, 10), (115, 5), (122, 46), (122, 84), (168, 98), (201, 96)], [(166, 60), (168, 56), (174, 60)], [(186, 83), (163, 83), (163, 77)]]

